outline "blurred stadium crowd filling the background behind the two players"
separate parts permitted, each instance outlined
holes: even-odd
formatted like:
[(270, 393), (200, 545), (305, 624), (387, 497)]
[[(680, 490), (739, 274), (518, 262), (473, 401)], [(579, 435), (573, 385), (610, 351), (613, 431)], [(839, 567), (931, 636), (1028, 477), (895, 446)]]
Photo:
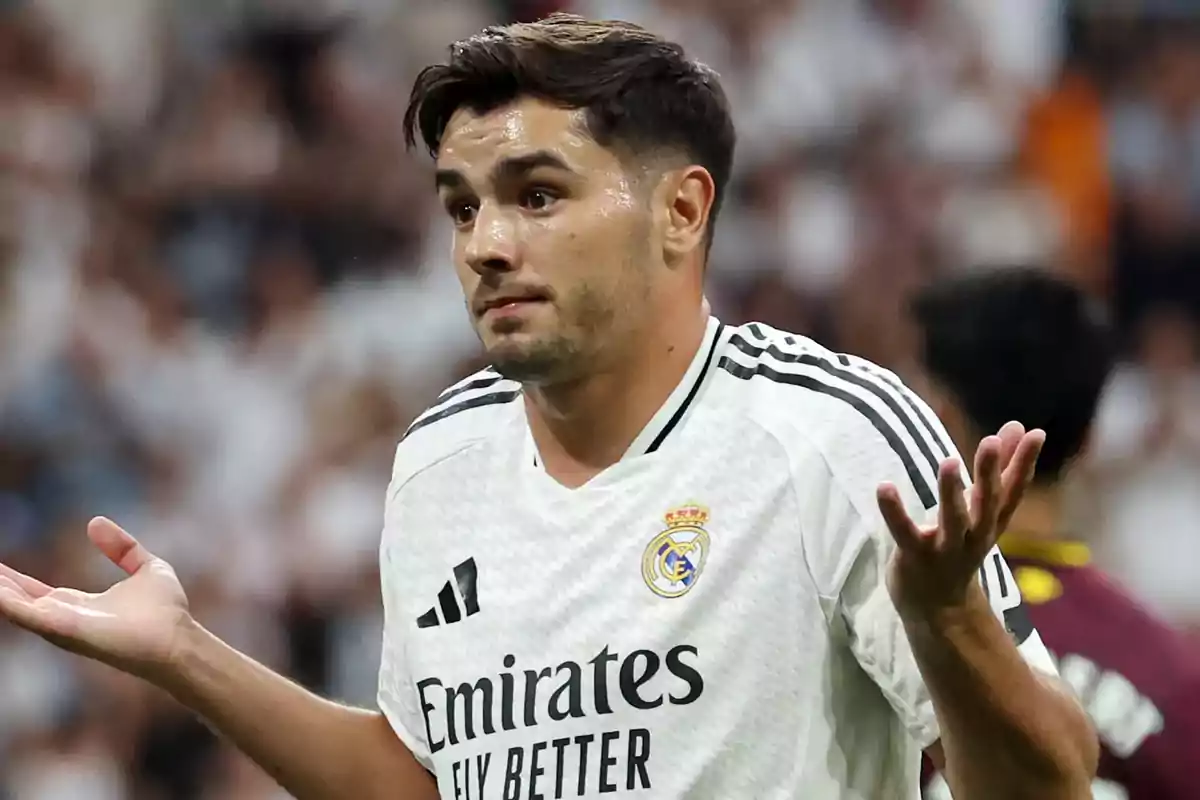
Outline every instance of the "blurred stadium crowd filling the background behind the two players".
[[(371, 704), (391, 455), (479, 366), (403, 104), (448, 42), (556, 8), (722, 74), (726, 321), (904, 373), (914, 285), (1037, 264), (1085, 287), (1123, 361), (1076, 530), (1200, 627), (1184, 0), (2, 0), (0, 559), (104, 587), (83, 529), (112, 516), (235, 646)], [(161, 694), (0, 627), (0, 798), (278, 796)]]

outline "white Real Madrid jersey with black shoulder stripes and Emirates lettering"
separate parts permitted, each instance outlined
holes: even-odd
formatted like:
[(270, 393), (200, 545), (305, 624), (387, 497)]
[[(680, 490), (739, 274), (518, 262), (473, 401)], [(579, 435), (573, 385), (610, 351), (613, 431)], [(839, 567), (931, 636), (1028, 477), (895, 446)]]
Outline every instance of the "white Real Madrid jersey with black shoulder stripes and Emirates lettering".
[[(954, 447), (888, 372), (710, 320), (626, 456), (540, 467), (521, 387), (448, 390), (396, 455), (379, 704), (443, 798), (918, 796), (938, 738), (876, 487)], [(985, 588), (1052, 672), (998, 553)]]

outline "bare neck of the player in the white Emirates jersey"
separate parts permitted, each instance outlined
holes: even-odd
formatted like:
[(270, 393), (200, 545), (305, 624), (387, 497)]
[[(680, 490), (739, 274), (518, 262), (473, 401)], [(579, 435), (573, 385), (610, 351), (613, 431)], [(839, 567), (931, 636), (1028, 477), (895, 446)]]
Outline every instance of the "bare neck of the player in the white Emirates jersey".
[[(526, 390), (529, 429), (546, 471), (565, 486), (616, 464), (683, 380), (708, 313), (660, 318), (642, 344), (586, 379)], [(646, 344), (649, 343), (649, 344)]]

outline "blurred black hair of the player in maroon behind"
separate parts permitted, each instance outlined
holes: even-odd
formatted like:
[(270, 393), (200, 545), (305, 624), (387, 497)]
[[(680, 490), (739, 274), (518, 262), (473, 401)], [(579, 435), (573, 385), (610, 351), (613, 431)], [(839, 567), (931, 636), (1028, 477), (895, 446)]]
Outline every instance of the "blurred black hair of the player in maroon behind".
[(1046, 432), (1034, 481), (1079, 455), (1112, 366), (1112, 338), (1082, 291), (1033, 267), (935, 283), (912, 303), (922, 361), (979, 433), (1009, 420)]

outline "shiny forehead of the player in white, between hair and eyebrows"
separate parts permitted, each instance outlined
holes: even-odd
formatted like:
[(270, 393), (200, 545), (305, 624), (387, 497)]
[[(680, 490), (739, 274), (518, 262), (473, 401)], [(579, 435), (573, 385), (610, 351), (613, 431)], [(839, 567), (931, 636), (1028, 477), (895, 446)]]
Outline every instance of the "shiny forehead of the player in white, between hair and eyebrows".
[(456, 110), (443, 133), (437, 167), (475, 182), (497, 164), (534, 154), (550, 154), (584, 176), (623, 168), (616, 154), (588, 134), (582, 110), (528, 97), (484, 113)]

